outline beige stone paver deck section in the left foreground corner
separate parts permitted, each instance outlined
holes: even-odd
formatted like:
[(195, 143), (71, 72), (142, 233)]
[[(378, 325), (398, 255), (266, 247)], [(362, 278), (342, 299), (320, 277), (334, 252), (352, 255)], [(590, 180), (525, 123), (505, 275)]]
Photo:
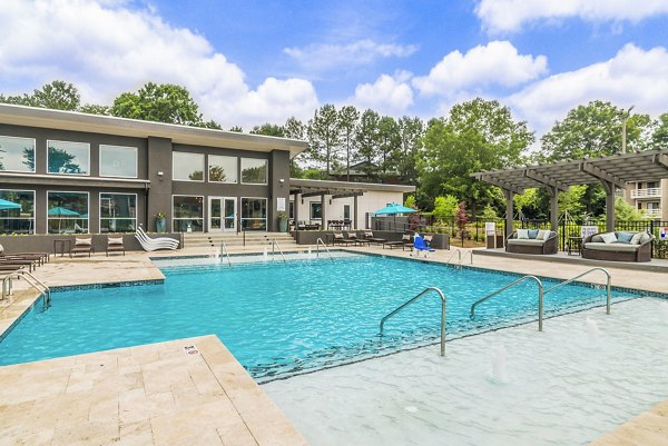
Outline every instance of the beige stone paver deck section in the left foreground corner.
[(306, 445), (215, 336), (0, 367), (0, 445)]

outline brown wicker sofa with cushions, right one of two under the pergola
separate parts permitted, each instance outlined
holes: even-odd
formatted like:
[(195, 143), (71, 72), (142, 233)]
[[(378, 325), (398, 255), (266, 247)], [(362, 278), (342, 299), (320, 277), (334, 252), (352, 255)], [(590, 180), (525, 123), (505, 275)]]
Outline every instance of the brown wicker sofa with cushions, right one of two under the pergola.
[[(609, 234), (615, 235), (615, 240), (606, 242), (603, 239)], [(629, 235), (631, 235), (631, 240), (622, 241), (627, 240)], [(632, 236), (637, 236), (637, 240)], [(652, 238), (648, 232), (593, 234), (582, 241), (582, 258), (612, 261), (650, 261)]]

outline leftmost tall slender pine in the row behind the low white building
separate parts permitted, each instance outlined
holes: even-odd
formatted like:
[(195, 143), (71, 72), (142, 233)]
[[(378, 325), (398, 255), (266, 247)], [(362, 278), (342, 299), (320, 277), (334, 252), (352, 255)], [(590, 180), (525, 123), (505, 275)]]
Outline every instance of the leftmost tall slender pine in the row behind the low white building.
[(336, 108), (327, 103), (316, 110), (313, 119), (308, 121), (306, 131), (310, 145), (308, 155), (314, 161), (324, 163), (325, 174), (330, 176), (338, 161), (341, 143)]

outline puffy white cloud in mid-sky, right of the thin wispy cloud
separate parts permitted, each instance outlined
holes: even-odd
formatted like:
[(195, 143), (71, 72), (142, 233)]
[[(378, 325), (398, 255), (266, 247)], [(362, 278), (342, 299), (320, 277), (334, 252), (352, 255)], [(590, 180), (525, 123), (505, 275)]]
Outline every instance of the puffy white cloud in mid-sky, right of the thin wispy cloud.
[(522, 56), (512, 43), (493, 41), (472, 48), (465, 54), (450, 52), (429, 76), (413, 79), (413, 86), (423, 95), (453, 96), (471, 87), (517, 86), (544, 73), (547, 66), (544, 56)]

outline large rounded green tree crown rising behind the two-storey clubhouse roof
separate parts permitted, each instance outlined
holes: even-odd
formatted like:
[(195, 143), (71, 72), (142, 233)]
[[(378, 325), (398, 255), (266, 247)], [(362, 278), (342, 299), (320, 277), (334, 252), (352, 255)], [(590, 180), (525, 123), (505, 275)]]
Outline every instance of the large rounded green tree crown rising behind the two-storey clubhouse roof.
[(136, 93), (125, 92), (114, 100), (114, 116), (183, 126), (202, 123), (197, 103), (184, 87), (148, 82)]

